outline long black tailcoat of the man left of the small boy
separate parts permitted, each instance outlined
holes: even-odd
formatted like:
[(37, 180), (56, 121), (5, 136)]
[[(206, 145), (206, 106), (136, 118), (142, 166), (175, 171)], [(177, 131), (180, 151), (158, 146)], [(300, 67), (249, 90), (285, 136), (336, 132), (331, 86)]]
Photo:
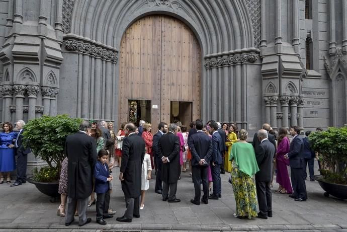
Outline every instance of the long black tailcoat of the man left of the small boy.
[(95, 139), (82, 131), (70, 134), (65, 141), (67, 162), (67, 195), (88, 198), (93, 189), (93, 170), (97, 162)]

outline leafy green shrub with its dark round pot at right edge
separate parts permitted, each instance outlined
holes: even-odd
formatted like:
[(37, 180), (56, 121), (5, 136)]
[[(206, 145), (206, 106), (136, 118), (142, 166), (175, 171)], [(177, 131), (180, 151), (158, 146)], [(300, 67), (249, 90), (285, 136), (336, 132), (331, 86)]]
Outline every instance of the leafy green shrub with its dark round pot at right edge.
[(347, 199), (347, 126), (311, 133), (309, 140), (319, 153), (321, 176), (315, 179), (324, 195)]

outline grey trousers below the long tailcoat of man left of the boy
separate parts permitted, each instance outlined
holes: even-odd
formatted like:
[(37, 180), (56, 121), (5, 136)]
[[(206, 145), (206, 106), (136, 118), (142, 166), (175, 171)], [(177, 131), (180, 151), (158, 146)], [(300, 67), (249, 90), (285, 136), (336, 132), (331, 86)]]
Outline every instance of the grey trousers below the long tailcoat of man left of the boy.
[(88, 197), (85, 199), (75, 199), (67, 197), (67, 207), (66, 207), (66, 216), (65, 223), (70, 223), (74, 219), (74, 214), (78, 211), (78, 224), (84, 224), (86, 221), (86, 206), (88, 205)]

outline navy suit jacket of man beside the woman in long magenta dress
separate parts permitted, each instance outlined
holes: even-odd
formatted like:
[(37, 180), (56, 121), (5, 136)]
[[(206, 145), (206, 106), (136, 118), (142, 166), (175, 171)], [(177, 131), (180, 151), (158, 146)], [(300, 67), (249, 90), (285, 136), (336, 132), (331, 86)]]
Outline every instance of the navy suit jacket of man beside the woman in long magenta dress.
[(304, 142), (300, 135), (297, 135), (289, 146), (288, 158), (291, 168), (302, 168), (304, 166), (304, 158), (302, 156)]

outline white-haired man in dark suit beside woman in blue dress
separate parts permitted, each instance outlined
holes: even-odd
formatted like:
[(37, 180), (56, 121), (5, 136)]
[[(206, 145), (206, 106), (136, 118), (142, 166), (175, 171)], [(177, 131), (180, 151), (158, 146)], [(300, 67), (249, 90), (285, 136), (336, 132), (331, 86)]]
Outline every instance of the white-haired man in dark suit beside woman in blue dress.
[(15, 142), (16, 152), (17, 152), (17, 179), (16, 182), (10, 185), (11, 187), (19, 186), (27, 182), (27, 164), (28, 164), (28, 153), (30, 153), (30, 148), (26, 148), (23, 145), (23, 126), (25, 122), (23, 120), (18, 120), (16, 122), (16, 127), (19, 130), (17, 139)]

